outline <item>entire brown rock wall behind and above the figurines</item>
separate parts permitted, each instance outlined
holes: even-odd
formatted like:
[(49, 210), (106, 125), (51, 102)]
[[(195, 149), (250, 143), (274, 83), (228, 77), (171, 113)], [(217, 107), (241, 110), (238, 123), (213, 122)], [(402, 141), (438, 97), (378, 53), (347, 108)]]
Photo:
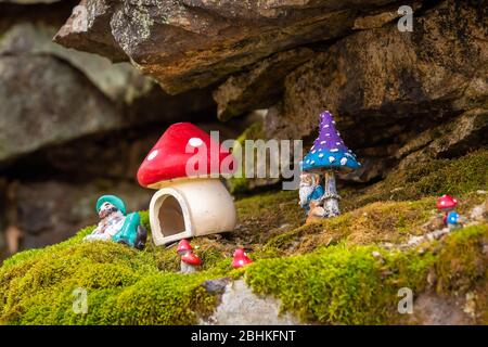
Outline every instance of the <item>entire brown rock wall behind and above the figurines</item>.
[(146, 208), (134, 174), (175, 121), (310, 143), (330, 110), (363, 163), (355, 184), (488, 143), (487, 1), (79, 4), (0, 0), (2, 257), (95, 222), (100, 194)]

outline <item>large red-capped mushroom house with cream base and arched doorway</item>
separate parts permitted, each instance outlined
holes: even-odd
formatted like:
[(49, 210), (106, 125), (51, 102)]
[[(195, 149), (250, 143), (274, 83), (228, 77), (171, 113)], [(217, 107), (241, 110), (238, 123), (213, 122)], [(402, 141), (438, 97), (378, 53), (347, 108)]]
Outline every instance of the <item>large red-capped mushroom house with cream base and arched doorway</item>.
[[(204, 164), (193, 165), (195, 156)], [(234, 160), (231, 153), (190, 123), (178, 123), (166, 130), (138, 171), (142, 187), (157, 190), (150, 204), (156, 245), (234, 229), (233, 198), (219, 179), (219, 175), (233, 171), (232, 165), (222, 164)], [(188, 168), (195, 166), (197, 172), (189, 172)]]

